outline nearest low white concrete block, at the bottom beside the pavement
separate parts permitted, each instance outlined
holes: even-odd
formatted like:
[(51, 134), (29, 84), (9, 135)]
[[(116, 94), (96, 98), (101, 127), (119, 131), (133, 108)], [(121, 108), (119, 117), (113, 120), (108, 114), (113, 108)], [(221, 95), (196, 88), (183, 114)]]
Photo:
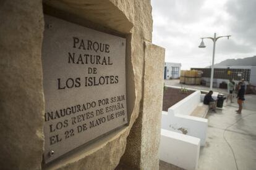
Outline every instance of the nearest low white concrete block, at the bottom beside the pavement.
[(160, 160), (184, 169), (198, 165), (200, 139), (161, 129)]

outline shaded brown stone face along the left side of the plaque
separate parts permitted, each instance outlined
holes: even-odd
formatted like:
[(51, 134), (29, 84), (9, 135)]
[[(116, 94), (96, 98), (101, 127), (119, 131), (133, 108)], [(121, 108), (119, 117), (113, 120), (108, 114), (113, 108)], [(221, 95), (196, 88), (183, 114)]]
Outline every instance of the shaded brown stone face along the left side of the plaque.
[(1, 1), (0, 165), (40, 169), (43, 154), (41, 1)]

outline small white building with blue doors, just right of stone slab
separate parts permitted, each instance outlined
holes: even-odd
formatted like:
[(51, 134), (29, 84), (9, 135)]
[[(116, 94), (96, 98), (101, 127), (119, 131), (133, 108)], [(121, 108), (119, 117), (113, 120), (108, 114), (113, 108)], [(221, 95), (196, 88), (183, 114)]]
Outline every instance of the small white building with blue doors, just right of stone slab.
[(181, 76), (181, 63), (164, 63), (164, 79), (177, 79)]

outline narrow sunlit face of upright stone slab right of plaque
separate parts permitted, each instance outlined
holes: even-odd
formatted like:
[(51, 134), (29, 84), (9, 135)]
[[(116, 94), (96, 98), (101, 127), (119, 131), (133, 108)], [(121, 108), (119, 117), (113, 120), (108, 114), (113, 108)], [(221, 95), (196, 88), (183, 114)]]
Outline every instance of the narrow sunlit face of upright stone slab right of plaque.
[(142, 152), (140, 168), (159, 169), (163, 105), (164, 49), (145, 42), (145, 74), (142, 115)]

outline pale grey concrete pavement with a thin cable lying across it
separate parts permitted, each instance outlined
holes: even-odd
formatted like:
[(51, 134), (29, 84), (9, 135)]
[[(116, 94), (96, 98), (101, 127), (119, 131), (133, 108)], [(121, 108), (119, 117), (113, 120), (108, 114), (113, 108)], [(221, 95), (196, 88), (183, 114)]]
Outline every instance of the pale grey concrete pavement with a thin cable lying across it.
[[(176, 80), (166, 81), (165, 84), (181, 86)], [(188, 85), (185, 87), (208, 90), (208, 87)], [(226, 93), (225, 89), (213, 89), (213, 91)], [(224, 107), (218, 109), (217, 113), (208, 113), (207, 140), (205, 147), (200, 148), (197, 170), (256, 169), (256, 95), (245, 95), (244, 110), (241, 115), (238, 115), (236, 110), (236, 102), (226, 103), (225, 100)], [(160, 164), (160, 169), (163, 169), (163, 164)], [(164, 169), (174, 168), (164, 164)]]

